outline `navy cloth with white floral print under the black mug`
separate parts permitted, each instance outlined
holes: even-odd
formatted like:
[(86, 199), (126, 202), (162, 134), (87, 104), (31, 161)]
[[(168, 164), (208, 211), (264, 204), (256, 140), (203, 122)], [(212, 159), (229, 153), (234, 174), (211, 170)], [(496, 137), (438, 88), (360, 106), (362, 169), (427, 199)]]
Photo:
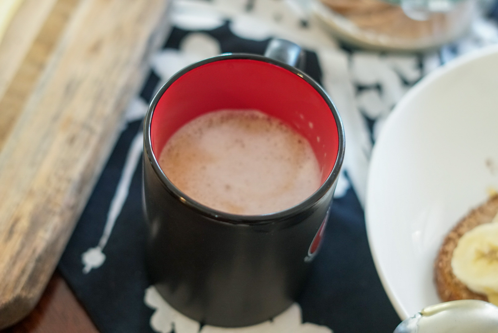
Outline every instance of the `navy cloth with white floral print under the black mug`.
[[(188, 323), (154, 298), (144, 267), (142, 119), (155, 91), (177, 70), (222, 52), (262, 54), (273, 36), (295, 37), (293, 41), (306, 48), (304, 70), (336, 102), (349, 154), (321, 250), (296, 300), (302, 322), (316, 324), (311, 325), (314, 331), (306, 332), (390, 333), (399, 323), (367, 240), (362, 203), (370, 153), (403, 93), (442, 63), (496, 43), (496, 24), (477, 20), (467, 37), (437, 52), (392, 55), (338, 45), (295, 5), (287, 5), (298, 2), (305, 1), (174, 2), (170, 35), (152, 57), (148, 79), (130, 104), (123, 132), (59, 263), (60, 272), (102, 333), (204, 331), (199, 323)], [(497, 17), (497, 8), (493, 7), (490, 17)], [(159, 303), (160, 311), (154, 306)]]

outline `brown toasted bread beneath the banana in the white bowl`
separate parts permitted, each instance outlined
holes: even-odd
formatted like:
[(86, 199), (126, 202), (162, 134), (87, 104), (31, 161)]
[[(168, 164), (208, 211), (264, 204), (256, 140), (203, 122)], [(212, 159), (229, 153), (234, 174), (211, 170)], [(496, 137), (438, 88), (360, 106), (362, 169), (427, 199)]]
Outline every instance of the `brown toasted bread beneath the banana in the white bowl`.
[(444, 302), (455, 300), (482, 300), (488, 297), (471, 291), (453, 273), (451, 260), (460, 238), (478, 225), (490, 223), (498, 213), (498, 194), (470, 211), (458, 222), (443, 241), (434, 263), (435, 282), (439, 297)]

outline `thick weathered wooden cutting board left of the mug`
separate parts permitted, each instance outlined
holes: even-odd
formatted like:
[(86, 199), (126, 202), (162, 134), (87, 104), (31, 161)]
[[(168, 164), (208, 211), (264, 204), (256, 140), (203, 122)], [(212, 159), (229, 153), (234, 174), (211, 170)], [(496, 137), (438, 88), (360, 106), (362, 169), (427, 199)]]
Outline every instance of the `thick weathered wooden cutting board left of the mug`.
[(168, 0), (24, 0), (0, 44), (0, 329), (41, 296), (115, 143)]

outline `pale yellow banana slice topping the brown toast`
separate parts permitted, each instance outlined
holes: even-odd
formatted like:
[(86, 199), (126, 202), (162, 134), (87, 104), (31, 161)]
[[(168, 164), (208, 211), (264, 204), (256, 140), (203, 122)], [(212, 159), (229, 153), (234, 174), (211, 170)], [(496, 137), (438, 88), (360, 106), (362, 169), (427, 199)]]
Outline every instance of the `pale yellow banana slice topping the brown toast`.
[(498, 214), (464, 234), (453, 251), (451, 267), (470, 290), (498, 305)]

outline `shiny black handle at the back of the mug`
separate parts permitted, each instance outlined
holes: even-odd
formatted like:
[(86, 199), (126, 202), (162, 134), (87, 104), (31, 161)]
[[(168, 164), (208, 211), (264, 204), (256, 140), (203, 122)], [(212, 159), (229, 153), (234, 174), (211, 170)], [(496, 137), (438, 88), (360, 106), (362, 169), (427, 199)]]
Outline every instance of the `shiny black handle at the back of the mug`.
[(273, 38), (270, 40), (264, 56), (301, 70), (304, 68), (305, 53), (301, 46), (286, 39)]

